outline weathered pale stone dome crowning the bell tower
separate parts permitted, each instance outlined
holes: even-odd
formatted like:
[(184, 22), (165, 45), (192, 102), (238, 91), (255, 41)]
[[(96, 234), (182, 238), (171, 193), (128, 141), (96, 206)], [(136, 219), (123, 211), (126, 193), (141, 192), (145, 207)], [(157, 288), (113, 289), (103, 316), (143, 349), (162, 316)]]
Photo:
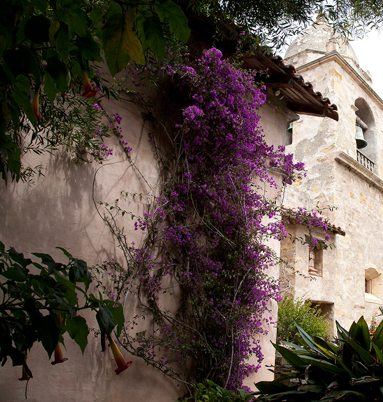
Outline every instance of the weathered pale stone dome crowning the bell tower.
[[(329, 47), (329, 43), (333, 46)], [(359, 62), (354, 49), (348, 43), (344, 43), (338, 33), (323, 20), (317, 19), (316, 23), (299, 35), (286, 50), (285, 59), (291, 59), (296, 67), (318, 59), (322, 55), (336, 49), (356, 70)], [(290, 61), (290, 60), (289, 60)]]

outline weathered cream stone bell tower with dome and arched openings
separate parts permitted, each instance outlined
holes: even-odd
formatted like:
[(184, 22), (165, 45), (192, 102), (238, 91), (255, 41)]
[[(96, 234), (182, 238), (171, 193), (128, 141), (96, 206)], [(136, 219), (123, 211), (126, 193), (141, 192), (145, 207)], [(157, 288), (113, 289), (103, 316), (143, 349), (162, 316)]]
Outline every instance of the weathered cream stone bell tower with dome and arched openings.
[[(315, 250), (284, 240), (281, 257), (303, 275), (283, 268), (280, 277), (296, 297), (321, 302), (331, 323), (348, 328), (361, 315), (371, 321), (383, 304), (383, 100), (352, 47), (324, 21), (292, 43), (284, 62), (294, 64), (305, 81), (338, 106), (339, 122), (301, 115), (289, 127), (286, 152), (305, 163), (307, 177), (286, 189), (283, 204), (335, 207), (323, 211), (334, 247), (323, 247), (320, 232), (314, 233)], [(294, 223), (288, 230), (302, 239), (309, 234)]]

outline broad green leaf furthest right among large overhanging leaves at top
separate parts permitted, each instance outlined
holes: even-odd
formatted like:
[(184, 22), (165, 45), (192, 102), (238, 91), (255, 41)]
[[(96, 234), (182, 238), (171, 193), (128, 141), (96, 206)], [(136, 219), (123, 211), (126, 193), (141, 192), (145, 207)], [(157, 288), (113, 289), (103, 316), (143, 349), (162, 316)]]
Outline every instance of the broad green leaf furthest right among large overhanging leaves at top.
[(165, 24), (169, 24), (170, 31), (181, 41), (186, 42), (190, 36), (187, 18), (182, 10), (173, 2), (156, 2), (155, 12)]

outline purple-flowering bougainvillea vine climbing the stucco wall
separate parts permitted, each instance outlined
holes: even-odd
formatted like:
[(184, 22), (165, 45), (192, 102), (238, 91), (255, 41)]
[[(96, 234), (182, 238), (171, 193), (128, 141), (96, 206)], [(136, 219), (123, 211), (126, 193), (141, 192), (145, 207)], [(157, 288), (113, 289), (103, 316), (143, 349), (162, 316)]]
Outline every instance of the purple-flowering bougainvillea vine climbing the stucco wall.
[[(118, 227), (114, 214), (126, 211), (114, 208), (106, 219), (127, 263), (100, 267), (113, 279), (111, 297), (142, 308), (120, 342), (186, 384), (208, 378), (242, 386), (263, 359), (259, 335), (273, 321), (268, 302), (279, 299), (267, 275), (278, 258), (265, 243), (286, 233), (277, 203), (265, 194), (291, 183), (303, 164), (265, 143), (258, 114), (265, 87), (255, 78), (217, 49), (170, 70), (153, 121), (162, 136), (149, 139), (161, 193), (142, 217), (128, 212), (143, 243)], [(315, 226), (326, 228), (317, 217)], [(152, 330), (139, 331), (149, 316)], [(249, 363), (252, 355), (258, 363)]]

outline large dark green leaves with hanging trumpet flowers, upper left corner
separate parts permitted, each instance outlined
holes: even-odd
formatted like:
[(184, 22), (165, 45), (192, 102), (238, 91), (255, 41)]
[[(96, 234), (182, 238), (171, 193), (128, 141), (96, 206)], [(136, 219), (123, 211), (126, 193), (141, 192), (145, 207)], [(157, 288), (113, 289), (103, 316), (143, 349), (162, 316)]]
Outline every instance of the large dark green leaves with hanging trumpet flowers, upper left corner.
[(84, 0), (0, 5), (0, 172), (6, 182), (9, 173), (12, 180), (20, 178), (21, 122), (36, 128), (44, 118), (39, 91), (53, 103), (59, 93), (80, 92), (81, 70), (92, 78), (92, 64), (103, 58), (115, 76), (131, 59), (145, 65), (148, 52), (162, 62), (171, 36), (186, 42), (190, 35), (185, 15), (171, 0), (139, 0), (134, 6), (111, 1), (107, 8)]

